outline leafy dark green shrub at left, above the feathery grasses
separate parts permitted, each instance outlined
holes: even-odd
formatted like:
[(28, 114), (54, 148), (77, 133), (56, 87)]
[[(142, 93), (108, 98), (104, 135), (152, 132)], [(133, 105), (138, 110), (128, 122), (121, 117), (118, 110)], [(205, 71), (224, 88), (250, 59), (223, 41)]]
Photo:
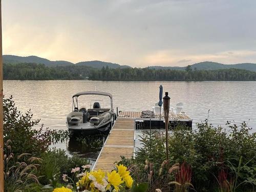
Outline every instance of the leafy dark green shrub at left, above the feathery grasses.
[(12, 141), (12, 150), (16, 155), (30, 153), (39, 157), (48, 150), (52, 142), (58, 142), (68, 137), (68, 132), (43, 129), (35, 129), (39, 119), (33, 120), (30, 110), (22, 114), (18, 111), (13, 97), (4, 99), (4, 142)]

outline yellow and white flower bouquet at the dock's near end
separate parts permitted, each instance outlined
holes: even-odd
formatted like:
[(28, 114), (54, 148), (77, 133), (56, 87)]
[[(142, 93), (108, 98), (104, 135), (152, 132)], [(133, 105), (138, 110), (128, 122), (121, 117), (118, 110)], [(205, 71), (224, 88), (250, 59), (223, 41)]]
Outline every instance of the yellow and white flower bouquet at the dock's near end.
[[(90, 165), (84, 165), (82, 168), (72, 168), (73, 177), (63, 175), (63, 181), (67, 182), (67, 186), (57, 187), (53, 192), (65, 191), (83, 191), (83, 192), (103, 192), (103, 191), (120, 191), (131, 189), (132, 192), (146, 192), (147, 184), (136, 184), (127, 167), (122, 164), (116, 165), (111, 173), (105, 174), (100, 169), (90, 172)], [(105, 179), (105, 175), (108, 177)], [(107, 183), (104, 185), (104, 180)], [(44, 188), (53, 187), (45, 186)]]

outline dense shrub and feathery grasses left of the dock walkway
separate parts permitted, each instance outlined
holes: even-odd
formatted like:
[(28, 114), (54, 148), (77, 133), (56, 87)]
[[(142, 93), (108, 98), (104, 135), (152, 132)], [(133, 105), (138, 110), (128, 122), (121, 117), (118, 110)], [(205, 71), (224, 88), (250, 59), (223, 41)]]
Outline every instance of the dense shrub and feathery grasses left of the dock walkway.
[(67, 132), (35, 129), (39, 120), (33, 120), (30, 111), (22, 114), (12, 96), (3, 104), (6, 191), (42, 191), (42, 184), (57, 185), (71, 167), (89, 163), (77, 155), (68, 157), (63, 150), (50, 150), (52, 143), (68, 138)]

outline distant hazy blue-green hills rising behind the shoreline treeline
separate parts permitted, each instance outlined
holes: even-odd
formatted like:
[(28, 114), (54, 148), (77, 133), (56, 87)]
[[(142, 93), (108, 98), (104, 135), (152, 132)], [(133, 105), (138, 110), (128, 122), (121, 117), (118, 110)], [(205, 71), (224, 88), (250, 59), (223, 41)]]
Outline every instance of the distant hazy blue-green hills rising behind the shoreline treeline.
[[(22, 57), (22, 56), (16, 56), (16, 55), (3, 55), (3, 62), (4, 63), (38, 63), (38, 64), (40, 63), (49, 67), (82, 65), (82, 66), (88, 66), (96, 69), (101, 69), (102, 67), (107, 67), (107, 66), (112, 69), (132, 68), (130, 66), (119, 65), (117, 63), (104, 62), (104, 61), (98, 61), (98, 60), (72, 63), (72, 62), (63, 61), (63, 60), (51, 61), (49, 59), (45, 59), (37, 56)], [(148, 68), (171, 69), (171, 70), (186, 69), (186, 67), (162, 67), (162, 66), (150, 66)], [(193, 70), (218, 70), (218, 69), (234, 68), (234, 69), (243, 69), (243, 70), (256, 72), (256, 63), (238, 63), (238, 64), (225, 65), (219, 62), (204, 61), (204, 62), (199, 62), (191, 65), (191, 68)]]

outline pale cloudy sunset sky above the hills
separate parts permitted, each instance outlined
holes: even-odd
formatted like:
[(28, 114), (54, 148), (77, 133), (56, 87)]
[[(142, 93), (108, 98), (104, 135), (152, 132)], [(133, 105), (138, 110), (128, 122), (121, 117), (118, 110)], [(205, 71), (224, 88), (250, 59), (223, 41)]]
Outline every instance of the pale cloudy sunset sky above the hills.
[(71, 62), (256, 63), (255, 0), (2, 0), (3, 54)]

